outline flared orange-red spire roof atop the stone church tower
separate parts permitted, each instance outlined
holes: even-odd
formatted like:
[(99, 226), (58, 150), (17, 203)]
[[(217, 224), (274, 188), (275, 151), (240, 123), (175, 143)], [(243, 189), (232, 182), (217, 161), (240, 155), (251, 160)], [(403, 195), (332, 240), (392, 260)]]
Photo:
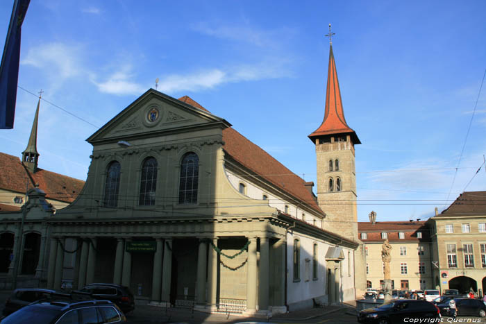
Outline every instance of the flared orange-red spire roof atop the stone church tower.
[(333, 44), (330, 44), (326, 112), (321, 126), (314, 133), (310, 134), (309, 138), (312, 142), (315, 142), (317, 137), (335, 134), (349, 134), (354, 144), (361, 144), (358, 135), (348, 126), (344, 118), (340, 83), (337, 80), (336, 62), (334, 61)]

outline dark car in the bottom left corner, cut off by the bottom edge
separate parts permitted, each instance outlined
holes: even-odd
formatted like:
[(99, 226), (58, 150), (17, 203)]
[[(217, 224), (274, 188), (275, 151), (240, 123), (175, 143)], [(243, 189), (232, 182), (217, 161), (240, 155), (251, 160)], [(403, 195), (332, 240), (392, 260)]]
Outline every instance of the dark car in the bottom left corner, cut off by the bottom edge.
[(126, 317), (109, 300), (82, 302), (40, 300), (3, 318), (1, 324), (92, 324), (126, 322)]

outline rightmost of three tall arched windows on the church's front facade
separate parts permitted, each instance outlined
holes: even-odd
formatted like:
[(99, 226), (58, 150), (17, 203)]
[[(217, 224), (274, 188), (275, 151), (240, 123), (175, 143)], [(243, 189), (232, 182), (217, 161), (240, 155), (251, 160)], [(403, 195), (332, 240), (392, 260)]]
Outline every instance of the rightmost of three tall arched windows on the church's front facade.
[(181, 162), (181, 178), (179, 180), (179, 203), (197, 203), (197, 187), (199, 182), (199, 157), (196, 153), (187, 153)]

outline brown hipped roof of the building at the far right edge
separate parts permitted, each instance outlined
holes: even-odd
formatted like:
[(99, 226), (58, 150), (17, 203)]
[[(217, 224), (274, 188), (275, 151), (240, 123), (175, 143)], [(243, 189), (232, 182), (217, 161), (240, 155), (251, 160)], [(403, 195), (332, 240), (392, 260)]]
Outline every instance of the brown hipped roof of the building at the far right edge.
[(486, 191), (464, 191), (440, 216), (486, 215)]

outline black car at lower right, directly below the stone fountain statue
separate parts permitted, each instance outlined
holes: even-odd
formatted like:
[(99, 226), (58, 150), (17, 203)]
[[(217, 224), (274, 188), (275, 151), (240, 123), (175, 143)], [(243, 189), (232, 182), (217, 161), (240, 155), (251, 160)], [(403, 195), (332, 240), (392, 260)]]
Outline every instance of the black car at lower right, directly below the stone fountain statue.
[(410, 322), (415, 318), (440, 318), (439, 309), (426, 300), (394, 299), (376, 308), (363, 309), (358, 314), (360, 323), (394, 324)]

